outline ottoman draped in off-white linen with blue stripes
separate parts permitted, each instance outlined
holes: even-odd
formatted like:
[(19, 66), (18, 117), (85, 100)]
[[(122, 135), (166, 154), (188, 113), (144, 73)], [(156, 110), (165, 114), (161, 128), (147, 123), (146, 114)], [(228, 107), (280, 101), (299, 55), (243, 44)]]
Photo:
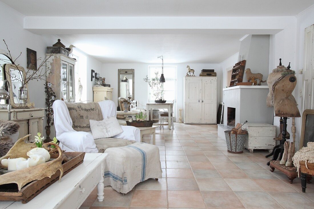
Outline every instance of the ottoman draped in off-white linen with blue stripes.
[(134, 143), (105, 150), (104, 186), (123, 194), (139, 182), (162, 178), (159, 148), (152, 144)]

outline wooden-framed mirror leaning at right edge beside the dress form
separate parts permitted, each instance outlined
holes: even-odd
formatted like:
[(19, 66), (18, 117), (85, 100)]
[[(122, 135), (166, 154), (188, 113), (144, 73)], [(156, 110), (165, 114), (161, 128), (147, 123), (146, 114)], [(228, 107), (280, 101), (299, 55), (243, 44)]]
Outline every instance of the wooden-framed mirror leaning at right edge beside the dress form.
[(299, 149), (306, 147), (308, 142), (314, 142), (314, 110), (304, 110)]

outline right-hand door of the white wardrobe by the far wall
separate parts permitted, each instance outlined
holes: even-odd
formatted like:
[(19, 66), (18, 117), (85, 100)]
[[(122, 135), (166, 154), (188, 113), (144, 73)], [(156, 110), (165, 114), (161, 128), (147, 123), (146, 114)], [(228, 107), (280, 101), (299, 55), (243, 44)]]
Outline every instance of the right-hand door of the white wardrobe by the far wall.
[(202, 122), (217, 123), (217, 78), (202, 78)]

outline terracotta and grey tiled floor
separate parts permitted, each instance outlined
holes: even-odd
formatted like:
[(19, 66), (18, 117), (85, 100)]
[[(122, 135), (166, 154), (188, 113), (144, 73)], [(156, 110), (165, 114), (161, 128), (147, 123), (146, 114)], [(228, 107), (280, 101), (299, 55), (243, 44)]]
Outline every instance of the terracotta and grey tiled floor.
[[(152, 136), (144, 136), (152, 144)], [(146, 180), (123, 195), (105, 187), (105, 200), (94, 190), (80, 209), (304, 208), (314, 209), (314, 184), (301, 192), (300, 179), (269, 171), (268, 151), (227, 152), (217, 125), (175, 123), (156, 129), (163, 178)]]

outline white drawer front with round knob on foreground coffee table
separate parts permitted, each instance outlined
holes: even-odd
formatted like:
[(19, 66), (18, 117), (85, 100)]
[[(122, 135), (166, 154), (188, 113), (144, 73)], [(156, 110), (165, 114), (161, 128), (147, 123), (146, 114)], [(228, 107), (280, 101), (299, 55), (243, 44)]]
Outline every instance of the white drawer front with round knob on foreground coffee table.
[(97, 183), (97, 170), (95, 169), (75, 186), (72, 193), (65, 198), (58, 208), (79, 208), (93, 191)]

